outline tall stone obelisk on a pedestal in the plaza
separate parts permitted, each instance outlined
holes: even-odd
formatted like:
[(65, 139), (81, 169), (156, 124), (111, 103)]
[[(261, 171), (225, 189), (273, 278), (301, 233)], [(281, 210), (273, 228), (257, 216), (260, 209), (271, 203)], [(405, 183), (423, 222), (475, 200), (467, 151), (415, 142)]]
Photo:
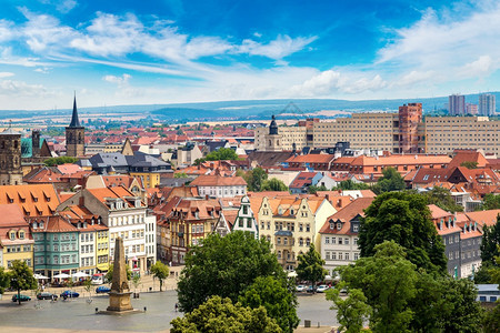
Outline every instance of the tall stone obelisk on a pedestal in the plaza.
[(127, 264), (124, 262), (123, 240), (117, 238), (114, 243), (113, 279), (109, 292), (108, 311), (124, 312), (132, 311), (130, 304), (129, 283), (127, 282)]

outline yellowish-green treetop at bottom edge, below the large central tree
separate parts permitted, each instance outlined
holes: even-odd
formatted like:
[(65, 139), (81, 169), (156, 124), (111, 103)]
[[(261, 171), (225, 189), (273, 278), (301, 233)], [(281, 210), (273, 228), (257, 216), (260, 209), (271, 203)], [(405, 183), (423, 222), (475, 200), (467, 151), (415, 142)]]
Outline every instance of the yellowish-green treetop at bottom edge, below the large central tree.
[(229, 297), (212, 296), (198, 309), (170, 322), (171, 333), (233, 332), (278, 333), (281, 329), (267, 315), (266, 307), (244, 307)]

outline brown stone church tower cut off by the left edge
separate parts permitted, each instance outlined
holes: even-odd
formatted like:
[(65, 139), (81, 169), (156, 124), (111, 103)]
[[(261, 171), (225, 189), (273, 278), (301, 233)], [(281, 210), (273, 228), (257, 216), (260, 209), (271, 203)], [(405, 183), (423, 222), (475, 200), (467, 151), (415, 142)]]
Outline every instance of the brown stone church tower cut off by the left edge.
[(21, 133), (11, 125), (0, 133), (0, 185), (22, 184)]

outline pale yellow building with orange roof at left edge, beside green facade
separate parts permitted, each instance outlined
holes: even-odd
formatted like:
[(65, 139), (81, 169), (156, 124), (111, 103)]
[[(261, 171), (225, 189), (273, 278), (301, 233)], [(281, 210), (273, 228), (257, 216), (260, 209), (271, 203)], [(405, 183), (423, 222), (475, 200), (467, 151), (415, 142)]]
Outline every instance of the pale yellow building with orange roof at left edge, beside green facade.
[(14, 260), (33, 269), (34, 240), (21, 209), (17, 204), (0, 204), (0, 263), (9, 269)]

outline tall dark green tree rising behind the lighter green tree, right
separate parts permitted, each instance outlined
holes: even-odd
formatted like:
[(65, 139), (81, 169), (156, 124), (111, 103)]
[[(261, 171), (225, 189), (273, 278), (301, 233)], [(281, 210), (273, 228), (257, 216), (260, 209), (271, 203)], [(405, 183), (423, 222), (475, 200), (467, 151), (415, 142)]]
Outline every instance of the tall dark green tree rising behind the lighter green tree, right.
[(430, 219), (427, 199), (419, 194), (388, 192), (378, 195), (361, 219), (361, 256), (371, 256), (376, 246), (393, 240), (404, 248), (408, 260), (418, 268), (447, 272), (444, 245)]

